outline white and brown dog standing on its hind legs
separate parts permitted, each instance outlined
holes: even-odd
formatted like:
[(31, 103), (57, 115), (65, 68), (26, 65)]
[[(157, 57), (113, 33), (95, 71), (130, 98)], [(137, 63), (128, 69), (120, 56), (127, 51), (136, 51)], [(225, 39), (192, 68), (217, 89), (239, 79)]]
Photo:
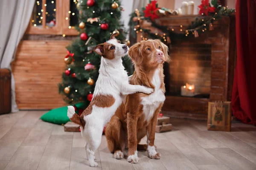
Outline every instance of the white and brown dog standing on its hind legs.
[(153, 92), (152, 88), (129, 84), (127, 72), (122, 65), (122, 57), (127, 54), (128, 47), (116, 40), (115, 35), (112, 34), (111, 40), (97, 45), (93, 50), (102, 58), (90, 105), (81, 116), (75, 113), (73, 106), (68, 106), (67, 111), (70, 120), (81, 127), (81, 135), (85, 140), (84, 147), (91, 167), (98, 165), (94, 161), (94, 152), (101, 143), (103, 127), (122, 103), (123, 95)]

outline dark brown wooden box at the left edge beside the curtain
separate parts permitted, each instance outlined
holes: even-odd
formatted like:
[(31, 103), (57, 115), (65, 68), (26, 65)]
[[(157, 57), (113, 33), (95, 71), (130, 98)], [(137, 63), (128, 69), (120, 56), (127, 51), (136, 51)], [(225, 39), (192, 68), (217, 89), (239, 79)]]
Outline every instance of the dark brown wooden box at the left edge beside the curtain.
[(0, 69), (0, 114), (12, 111), (11, 102), (11, 71), (7, 68)]

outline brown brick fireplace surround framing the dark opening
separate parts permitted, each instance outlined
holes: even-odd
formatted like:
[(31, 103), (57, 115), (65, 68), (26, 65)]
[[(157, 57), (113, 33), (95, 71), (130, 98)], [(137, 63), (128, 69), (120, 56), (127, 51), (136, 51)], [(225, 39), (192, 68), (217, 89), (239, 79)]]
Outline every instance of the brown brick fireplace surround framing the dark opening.
[[(187, 26), (191, 25), (192, 21), (195, 20), (195, 17), (206, 19), (205, 17), (195, 15), (171, 16), (159, 18), (155, 22), (163, 26), (168, 26), (169, 30), (174, 29), (174, 31), (179, 33), (180, 29), (186, 30)], [(141, 28), (150, 29), (153, 33), (163, 34), (157, 28), (151, 27), (151, 23), (147, 21), (143, 21), (140, 26)], [(209, 44), (212, 46), (210, 98), (166, 96), (166, 101), (162, 109), (166, 115), (191, 119), (206, 119), (209, 101), (231, 100), (236, 60), (235, 16), (222, 17), (222, 19), (213, 23), (213, 28), (213, 31), (207, 30), (197, 38), (188, 36), (185, 40), (172, 42), (175, 45)], [(141, 32), (139, 31), (137, 42), (142, 40), (140, 36)], [(172, 44), (170, 47), (172, 47)], [(171, 50), (170, 55), (172, 56)], [(172, 62), (169, 65), (172, 65)], [(167, 83), (169, 79), (169, 65), (165, 65), (164, 67), (165, 82)], [(166, 90), (168, 88), (168, 85), (166, 85)]]

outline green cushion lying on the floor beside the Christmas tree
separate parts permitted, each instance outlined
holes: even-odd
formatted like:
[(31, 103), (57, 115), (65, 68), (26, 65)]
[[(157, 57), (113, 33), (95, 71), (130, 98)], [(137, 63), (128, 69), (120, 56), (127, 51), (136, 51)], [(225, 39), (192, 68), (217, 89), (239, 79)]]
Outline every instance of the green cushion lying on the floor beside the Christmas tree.
[(43, 116), (41, 116), (40, 119), (45, 122), (55, 123), (58, 125), (70, 122), (70, 119), (67, 117), (67, 106), (52, 109), (49, 112), (45, 113)]

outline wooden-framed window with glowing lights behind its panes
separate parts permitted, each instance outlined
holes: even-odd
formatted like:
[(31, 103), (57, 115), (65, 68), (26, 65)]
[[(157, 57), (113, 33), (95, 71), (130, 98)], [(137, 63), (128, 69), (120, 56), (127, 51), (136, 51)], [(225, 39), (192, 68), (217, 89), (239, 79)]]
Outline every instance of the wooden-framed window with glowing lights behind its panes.
[(36, 0), (27, 34), (77, 35), (78, 0)]

